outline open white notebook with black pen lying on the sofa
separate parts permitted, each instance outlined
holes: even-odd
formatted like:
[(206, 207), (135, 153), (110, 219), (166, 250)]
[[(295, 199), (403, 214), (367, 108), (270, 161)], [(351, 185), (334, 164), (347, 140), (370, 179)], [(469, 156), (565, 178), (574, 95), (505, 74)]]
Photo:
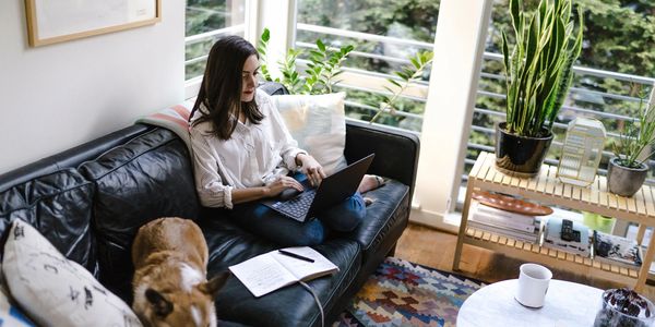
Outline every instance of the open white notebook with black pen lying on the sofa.
[(313, 263), (282, 254), (279, 250), (275, 250), (230, 266), (229, 270), (255, 298), (298, 281), (307, 281), (338, 271), (336, 265), (309, 246), (286, 247), (282, 251), (313, 259)]

